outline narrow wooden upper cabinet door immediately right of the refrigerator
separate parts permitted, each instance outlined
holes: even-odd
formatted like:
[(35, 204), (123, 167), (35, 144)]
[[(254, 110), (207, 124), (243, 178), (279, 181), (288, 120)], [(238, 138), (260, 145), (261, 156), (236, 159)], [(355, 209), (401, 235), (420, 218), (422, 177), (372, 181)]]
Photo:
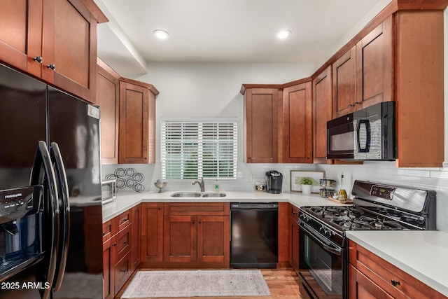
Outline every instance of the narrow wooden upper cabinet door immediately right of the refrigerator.
[(101, 111), (102, 164), (118, 164), (118, 120), (120, 88), (118, 74), (98, 60), (97, 105)]

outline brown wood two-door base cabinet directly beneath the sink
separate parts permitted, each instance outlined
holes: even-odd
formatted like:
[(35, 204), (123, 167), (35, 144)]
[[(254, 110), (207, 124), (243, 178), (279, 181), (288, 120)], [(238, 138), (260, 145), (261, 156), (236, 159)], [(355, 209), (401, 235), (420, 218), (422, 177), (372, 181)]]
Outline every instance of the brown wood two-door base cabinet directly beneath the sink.
[(165, 264), (230, 266), (229, 203), (166, 203)]

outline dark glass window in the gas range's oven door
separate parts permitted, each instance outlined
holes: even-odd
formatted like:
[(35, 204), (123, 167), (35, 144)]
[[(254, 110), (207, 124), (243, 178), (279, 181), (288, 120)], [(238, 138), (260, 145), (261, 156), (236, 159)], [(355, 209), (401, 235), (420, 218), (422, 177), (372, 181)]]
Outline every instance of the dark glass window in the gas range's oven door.
[(342, 295), (344, 285), (342, 257), (325, 251), (307, 235), (304, 236), (304, 261), (309, 274), (326, 295)]

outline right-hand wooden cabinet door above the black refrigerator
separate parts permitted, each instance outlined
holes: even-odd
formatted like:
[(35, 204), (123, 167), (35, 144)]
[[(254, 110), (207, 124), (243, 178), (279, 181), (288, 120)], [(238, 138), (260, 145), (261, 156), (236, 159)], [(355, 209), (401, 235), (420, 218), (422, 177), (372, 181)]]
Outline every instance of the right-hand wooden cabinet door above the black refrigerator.
[(43, 0), (42, 13), (41, 78), (94, 102), (97, 20), (81, 0)]

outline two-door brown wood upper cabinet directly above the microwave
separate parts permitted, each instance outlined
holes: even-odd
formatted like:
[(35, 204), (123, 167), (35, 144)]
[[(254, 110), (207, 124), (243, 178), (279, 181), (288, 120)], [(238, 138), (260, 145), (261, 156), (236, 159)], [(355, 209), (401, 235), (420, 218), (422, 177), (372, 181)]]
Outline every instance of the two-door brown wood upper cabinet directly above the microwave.
[(389, 16), (332, 64), (332, 118), (393, 101), (392, 39)]

